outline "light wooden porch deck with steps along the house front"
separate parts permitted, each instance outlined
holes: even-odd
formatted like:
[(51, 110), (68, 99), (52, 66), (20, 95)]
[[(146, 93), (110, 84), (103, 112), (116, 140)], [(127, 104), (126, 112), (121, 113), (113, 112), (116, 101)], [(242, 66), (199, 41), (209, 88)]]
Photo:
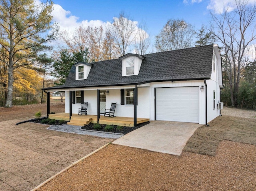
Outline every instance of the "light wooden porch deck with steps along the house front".
[[(57, 114), (50, 114), (50, 119), (56, 120), (65, 120), (69, 121), (69, 113), (57, 113)], [(148, 118), (137, 118), (137, 124), (148, 122)], [(97, 116), (96, 115), (78, 115), (72, 114), (70, 125), (78, 125), (84, 126), (89, 123), (97, 123)], [(106, 125), (120, 125), (126, 127), (134, 126), (133, 117), (105, 117), (100, 116), (99, 124), (106, 124)]]

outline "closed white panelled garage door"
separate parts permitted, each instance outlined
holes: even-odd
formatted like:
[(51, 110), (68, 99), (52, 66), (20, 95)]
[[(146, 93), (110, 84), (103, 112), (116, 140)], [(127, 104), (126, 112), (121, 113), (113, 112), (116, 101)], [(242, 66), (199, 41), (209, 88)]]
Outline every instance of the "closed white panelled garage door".
[(199, 123), (199, 87), (157, 88), (156, 120)]

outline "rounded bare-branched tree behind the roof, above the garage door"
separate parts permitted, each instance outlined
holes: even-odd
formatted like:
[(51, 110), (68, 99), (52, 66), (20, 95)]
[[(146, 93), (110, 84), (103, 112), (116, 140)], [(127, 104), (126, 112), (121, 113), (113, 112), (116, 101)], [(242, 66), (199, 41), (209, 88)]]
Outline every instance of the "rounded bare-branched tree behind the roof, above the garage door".
[(191, 47), (195, 33), (194, 27), (184, 20), (170, 19), (156, 35), (156, 49), (170, 51)]

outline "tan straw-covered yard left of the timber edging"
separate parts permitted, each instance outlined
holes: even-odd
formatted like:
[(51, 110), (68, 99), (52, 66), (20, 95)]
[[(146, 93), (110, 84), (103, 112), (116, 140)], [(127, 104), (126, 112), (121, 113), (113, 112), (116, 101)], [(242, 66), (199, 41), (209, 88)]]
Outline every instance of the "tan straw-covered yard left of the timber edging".
[[(46, 130), (47, 125), (17, 122), (34, 118), (46, 104), (0, 108), (0, 191), (28, 191), (112, 139)], [(63, 103), (51, 111), (64, 112)]]

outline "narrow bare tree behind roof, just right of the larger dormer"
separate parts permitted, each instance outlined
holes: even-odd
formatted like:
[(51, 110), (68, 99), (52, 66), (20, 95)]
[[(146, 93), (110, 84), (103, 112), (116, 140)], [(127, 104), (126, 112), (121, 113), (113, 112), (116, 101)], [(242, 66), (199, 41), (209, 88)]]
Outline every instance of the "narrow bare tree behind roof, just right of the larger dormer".
[(134, 39), (134, 50), (136, 54), (144, 55), (150, 45), (146, 23), (142, 22), (138, 27), (137, 35)]

